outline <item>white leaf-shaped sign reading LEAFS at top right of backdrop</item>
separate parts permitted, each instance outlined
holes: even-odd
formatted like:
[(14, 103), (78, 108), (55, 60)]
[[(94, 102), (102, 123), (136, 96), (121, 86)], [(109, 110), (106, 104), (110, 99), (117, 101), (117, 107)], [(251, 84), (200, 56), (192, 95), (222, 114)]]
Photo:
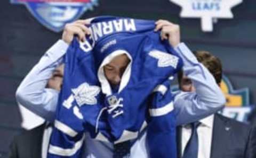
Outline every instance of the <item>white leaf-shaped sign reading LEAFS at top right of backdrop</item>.
[(213, 31), (213, 23), (218, 19), (232, 19), (231, 8), (243, 0), (170, 0), (182, 7), (181, 17), (201, 18), (205, 32)]

